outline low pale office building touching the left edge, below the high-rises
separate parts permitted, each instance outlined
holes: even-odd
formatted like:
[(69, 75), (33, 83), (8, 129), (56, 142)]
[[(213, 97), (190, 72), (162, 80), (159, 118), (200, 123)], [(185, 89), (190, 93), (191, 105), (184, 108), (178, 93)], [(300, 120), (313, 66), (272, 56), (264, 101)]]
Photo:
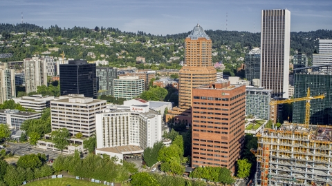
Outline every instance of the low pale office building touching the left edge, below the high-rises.
[(24, 121), (29, 119), (38, 119), (42, 114), (36, 112), (22, 112), (19, 110), (0, 110), (0, 123), (10, 125), (10, 128), (20, 130)]

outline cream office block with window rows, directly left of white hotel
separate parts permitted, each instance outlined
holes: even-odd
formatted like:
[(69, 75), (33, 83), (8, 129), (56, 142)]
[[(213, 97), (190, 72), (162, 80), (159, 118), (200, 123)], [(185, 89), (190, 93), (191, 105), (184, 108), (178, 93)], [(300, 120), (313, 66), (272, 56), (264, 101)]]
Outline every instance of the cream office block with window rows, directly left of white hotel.
[(106, 101), (84, 97), (82, 94), (60, 96), (50, 101), (52, 131), (68, 129), (71, 135), (79, 132), (84, 137), (95, 134), (95, 114), (106, 108)]

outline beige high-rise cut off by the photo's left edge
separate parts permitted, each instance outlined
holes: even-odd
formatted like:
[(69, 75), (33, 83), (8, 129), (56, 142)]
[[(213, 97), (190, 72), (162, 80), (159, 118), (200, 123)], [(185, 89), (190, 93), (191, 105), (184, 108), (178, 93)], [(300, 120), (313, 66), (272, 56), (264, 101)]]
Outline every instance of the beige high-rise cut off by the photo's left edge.
[(15, 96), (15, 69), (8, 68), (8, 63), (0, 63), (0, 104)]

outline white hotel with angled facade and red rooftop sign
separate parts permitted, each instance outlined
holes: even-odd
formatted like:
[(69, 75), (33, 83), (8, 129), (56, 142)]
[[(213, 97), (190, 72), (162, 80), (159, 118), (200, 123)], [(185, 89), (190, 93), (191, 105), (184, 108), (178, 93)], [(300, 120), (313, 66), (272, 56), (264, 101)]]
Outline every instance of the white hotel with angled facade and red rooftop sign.
[(97, 148), (135, 145), (145, 149), (162, 139), (161, 115), (148, 105), (109, 107), (96, 115)]

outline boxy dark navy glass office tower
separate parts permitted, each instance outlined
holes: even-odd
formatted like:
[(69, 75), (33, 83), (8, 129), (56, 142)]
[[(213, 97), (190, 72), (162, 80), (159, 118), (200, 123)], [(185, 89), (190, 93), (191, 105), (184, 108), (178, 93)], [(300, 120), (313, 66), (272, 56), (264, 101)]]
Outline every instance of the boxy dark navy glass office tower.
[(59, 65), (60, 94), (84, 94), (97, 99), (98, 79), (95, 75), (95, 64), (85, 60), (70, 60), (68, 64)]

